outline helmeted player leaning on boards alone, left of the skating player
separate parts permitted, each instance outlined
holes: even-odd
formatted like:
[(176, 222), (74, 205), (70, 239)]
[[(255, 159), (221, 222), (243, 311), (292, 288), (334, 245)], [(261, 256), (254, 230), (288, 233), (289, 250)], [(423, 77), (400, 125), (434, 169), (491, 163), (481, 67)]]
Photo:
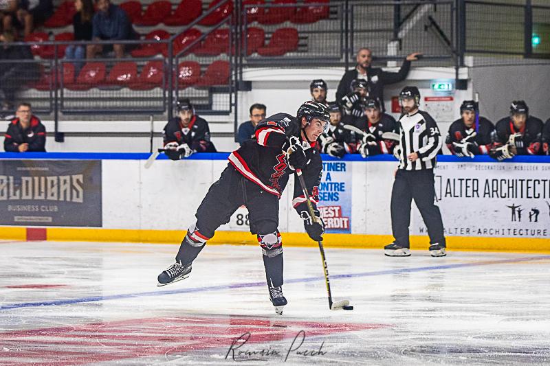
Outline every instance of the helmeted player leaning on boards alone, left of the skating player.
[(216, 152), (210, 141), (208, 122), (195, 115), (188, 98), (177, 102), (177, 111), (178, 116), (164, 126), (164, 153), (172, 160), (179, 160), (194, 152)]

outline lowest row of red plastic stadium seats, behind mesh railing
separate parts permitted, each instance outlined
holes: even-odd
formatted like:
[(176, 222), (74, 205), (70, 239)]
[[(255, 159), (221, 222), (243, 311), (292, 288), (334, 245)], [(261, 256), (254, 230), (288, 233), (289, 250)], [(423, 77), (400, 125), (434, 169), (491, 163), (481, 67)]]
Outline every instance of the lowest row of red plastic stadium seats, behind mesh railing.
[[(164, 62), (149, 61), (138, 76), (137, 64), (131, 61), (118, 62), (107, 73), (104, 62), (87, 62), (76, 75), (74, 65), (63, 63), (63, 73), (58, 71), (58, 80), (63, 80), (63, 87), (74, 91), (86, 91), (93, 87), (129, 87), (133, 90), (151, 90), (162, 87), (164, 80)], [(49, 91), (54, 85), (52, 73), (42, 73), (41, 80), (32, 85), (34, 89)], [(173, 75), (174, 85), (179, 89), (186, 87), (227, 86), (230, 76), (229, 62), (217, 60), (212, 62), (201, 75), (201, 65), (194, 61), (181, 62)]]

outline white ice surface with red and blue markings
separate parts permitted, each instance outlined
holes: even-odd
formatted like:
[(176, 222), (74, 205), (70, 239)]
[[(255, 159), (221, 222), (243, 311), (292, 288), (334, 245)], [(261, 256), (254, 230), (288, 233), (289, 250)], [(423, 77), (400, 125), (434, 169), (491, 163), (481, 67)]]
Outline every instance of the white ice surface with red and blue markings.
[(0, 242), (0, 365), (281, 364), (300, 330), (287, 365), (550, 363), (550, 255), (325, 249), (334, 299), (355, 307), (331, 311), (318, 248), (288, 247), (279, 317), (259, 247), (207, 245), (159, 288), (177, 248)]

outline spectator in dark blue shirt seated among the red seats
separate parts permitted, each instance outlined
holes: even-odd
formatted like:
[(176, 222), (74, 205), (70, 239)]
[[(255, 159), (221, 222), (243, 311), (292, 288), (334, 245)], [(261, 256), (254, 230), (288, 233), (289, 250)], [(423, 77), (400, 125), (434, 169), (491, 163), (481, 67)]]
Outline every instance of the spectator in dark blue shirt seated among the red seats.
[[(122, 41), (140, 38), (133, 29), (128, 15), (118, 5), (111, 4), (109, 0), (96, 0), (96, 8), (98, 11), (91, 21), (94, 41)], [(116, 58), (123, 58), (124, 49), (131, 49), (131, 47), (113, 44), (112, 49)], [(88, 45), (86, 56), (94, 58), (97, 54), (109, 51), (111, 51), (111, 45)]]

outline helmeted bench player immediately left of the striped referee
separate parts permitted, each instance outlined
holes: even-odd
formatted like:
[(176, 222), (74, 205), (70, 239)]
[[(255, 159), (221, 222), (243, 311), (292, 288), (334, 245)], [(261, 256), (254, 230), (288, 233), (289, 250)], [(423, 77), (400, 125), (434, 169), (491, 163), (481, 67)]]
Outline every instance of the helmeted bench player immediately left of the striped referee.
[(362, 107), (364, 117), (355, 121), (355, 126), (364, 131), (360, 140), (356, 141), (358, 152), (362, 157), (393, 154), (393, 148), (399, 137), (395, 135), (390, 138), (384, 136), (384, 133), (395, 132), (395, 118), (382, 111), (379, 100), (367, 99), (362, 103)]

